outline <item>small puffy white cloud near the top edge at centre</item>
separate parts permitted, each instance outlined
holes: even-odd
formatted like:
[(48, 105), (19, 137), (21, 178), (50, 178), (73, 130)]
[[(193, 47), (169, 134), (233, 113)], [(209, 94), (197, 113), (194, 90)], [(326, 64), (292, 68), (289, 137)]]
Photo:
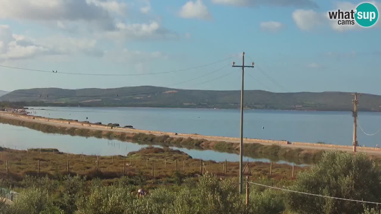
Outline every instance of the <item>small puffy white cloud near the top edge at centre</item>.
[(208, 7), (201, 0), (189, 1), (179, 11), (182, 18), (212, 19)]

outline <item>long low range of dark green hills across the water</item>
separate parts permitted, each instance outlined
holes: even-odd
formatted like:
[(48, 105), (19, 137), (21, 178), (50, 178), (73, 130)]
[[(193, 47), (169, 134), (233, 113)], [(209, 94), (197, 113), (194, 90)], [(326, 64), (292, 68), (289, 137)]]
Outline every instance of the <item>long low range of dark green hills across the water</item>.
[[(245, 91), (244, 106), (249, 109), (351, 111), (353, 96), (349, 92), (272, 93)], [(0, 101), (26, 101), (55, 106), (127, 106), (180, 108), (240, 108), (240, 91), (205, 91), (155, 86), (123, 88), (33, 88), (12, 91)], [(38, 103), (36, 103), (38, 102)], [(45, 103), (43, 103), (45, 102)], [(381, 111), (381, 96), (362, 94), (359, 110)]]

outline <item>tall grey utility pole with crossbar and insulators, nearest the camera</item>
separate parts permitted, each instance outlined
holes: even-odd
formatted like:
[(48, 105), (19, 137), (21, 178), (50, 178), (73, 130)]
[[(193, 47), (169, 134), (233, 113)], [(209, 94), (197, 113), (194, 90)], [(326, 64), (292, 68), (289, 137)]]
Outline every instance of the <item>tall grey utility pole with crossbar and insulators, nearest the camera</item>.
[(242, 149), (243, 149), (243, 76), (245, 72), (245, 67), (253, 68), (254, 62), (251, 62), (251, 66), (245, 66), (245, 52), (242, 52), (242, 65), (235, 65), (235, 62), (232, 63), (232, 67), (242, 67), (242, 87), (241, 87), (241, 129), (240, 129), (240, 149), (239, 149), (239, 193), (242, 193), (243, 190), (243, 177), (242, 177)]

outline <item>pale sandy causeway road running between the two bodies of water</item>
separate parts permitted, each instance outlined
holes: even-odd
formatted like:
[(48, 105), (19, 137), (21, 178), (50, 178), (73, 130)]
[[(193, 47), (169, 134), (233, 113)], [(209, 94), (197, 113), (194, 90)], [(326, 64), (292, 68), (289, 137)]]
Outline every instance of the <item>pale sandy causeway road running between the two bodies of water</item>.
[[(111, 128), (106, 125), (99, 125), (86, 122), (78, 122), (72, 120), (60, 120), (55, 118), (45, 118), (45, 117), (35, 117), (26, 114), (15, 114), (8, 112), (0, 112), (0, 117), (28, 121), (34, 123), (41, 123), (52, 126), (61, 126), (67, 128), (82, 128), (90, 130), (99, 130), (99, 131), (111, 131), (111, 132), (124, 132), (124, 133), (145, 133), (145, 134), (154, 134), (157, 136), (168, 135), (170, 137), (192, 137), (194, 139), (206, 139), (208, 141), (226, 141), (232, 143), (239, 143), (240, 139), (238, 137), (224, 137), (224, 136), (206, 136), (199, 134), (187, 134), (187, 133), (173, 133), (173, 132), (164, 132), (164, 131), (150, 131), (142, 129), (129, 129), (129, 128)], [(313, 144), (308, 142), (289, 142), (289, 141), (276, 141), (276, 140), (266, 140), (266, 139), (253, 139), (245, 138), (244, 143), (259, 143), (263, 145), (280, 145), (281, 147), (288, 147), (293, 149), (312, 149), (312, 150), (339, 150), (339, 151), (352, 151), (351, 145), (334, 145), (334, 144)], [(381, 149), (376, 147), (357, 147), (359, 152), (367, 152), (370, 155), (381, 156)]]

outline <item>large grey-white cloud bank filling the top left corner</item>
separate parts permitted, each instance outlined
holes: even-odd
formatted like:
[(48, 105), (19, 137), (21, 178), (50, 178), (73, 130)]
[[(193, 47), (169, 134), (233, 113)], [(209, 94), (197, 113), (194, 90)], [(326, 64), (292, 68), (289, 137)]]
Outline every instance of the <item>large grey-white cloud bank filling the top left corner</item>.
[(112, 29), (115, 15), (124, 15), (126, 4), (115, 0), (1, 0), (0, 19), (29, 21), (84, 21)]

